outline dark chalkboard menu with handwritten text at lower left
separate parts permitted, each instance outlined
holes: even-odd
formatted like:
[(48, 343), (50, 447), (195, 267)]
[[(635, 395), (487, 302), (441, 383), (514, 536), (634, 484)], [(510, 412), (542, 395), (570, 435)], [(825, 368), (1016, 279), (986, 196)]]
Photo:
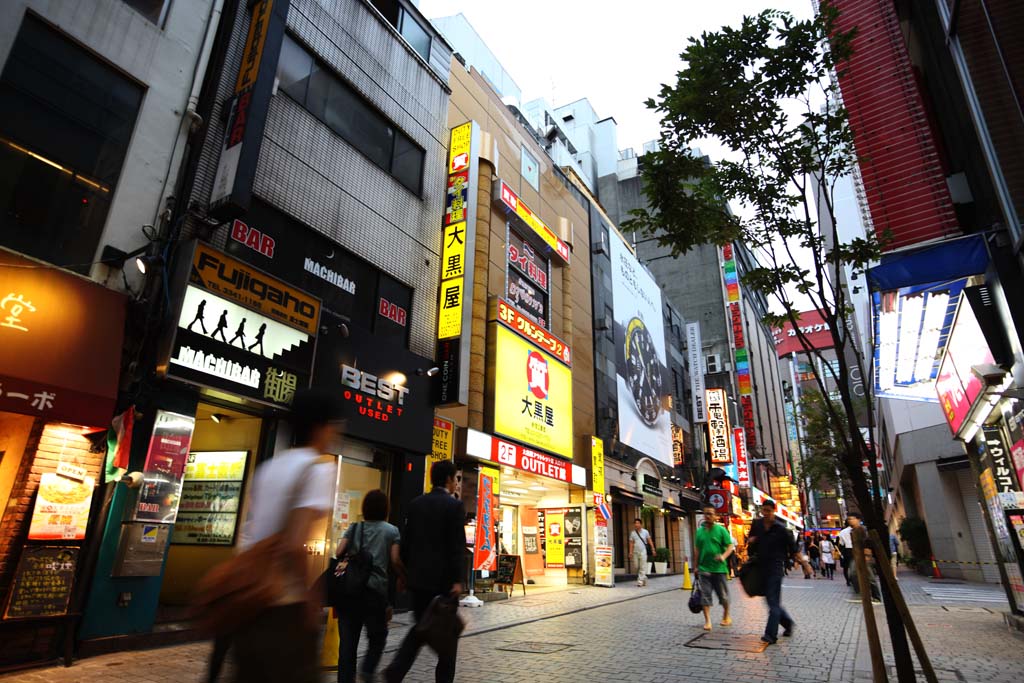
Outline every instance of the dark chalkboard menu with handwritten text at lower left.
[(11, 582), (4, 618), (57, 616), (68, 612), (79, 549), (26, 546)]

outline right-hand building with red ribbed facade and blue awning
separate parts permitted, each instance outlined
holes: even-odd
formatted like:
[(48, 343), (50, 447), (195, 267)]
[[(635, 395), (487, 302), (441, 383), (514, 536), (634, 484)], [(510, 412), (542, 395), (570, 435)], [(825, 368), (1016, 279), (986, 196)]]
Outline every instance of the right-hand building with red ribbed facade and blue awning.
[(879, 495), (891, 528), (925, 520), (944, 575), (1001, 574), (1019, 609), (1020, 553), (996, 494), (1016, 496), (1021, 483), (1004, 460), (1024, 368), (1020, 297), (1010, 295), (1021, 282), (1020, 174), (1009, 161), (1024, 118), (1012, 85), (1019, 60), (995, 31), (1022, 10), (987, 4), (837, 3), (843, 28), (859, 28), (839, 83), (863, 160), (864, 223), (891, 236), (868, 276), (887, 470)]

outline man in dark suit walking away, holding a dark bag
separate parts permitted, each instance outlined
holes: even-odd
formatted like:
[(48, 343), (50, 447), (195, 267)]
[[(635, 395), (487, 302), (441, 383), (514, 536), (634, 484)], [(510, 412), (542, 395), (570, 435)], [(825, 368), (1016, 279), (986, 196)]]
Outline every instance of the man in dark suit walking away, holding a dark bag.
[[(438, 595), (458, 600), (466, 562), (466, 510), (462, 501), (453, 498), (456, 468), (451, 460), (430, 468), (433, 489), (409, 504), (406, 529), (401, 537), (401, 560), (406, 565), (407, 585), (413, 598), (416, 622)], [(384, 672), (388, 683), (400, 681), (409, 673), (423, 645), (416, 629), (410, 629), (398, 652)], [(456, 648), (439, 654), (434, 678), (437, 683), (455, 680)]]

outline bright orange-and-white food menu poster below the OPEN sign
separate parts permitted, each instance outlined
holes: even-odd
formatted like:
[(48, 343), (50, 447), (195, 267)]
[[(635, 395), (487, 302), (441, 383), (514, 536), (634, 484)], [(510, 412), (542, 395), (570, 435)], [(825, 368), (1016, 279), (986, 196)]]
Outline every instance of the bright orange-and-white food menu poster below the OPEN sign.
[(29, 539), (33, 541), (81, 541), (89, 525), (89, 508), (95, 479), (81, 481), (47, 472), (39, 479), (39, 493), (32, 511)]

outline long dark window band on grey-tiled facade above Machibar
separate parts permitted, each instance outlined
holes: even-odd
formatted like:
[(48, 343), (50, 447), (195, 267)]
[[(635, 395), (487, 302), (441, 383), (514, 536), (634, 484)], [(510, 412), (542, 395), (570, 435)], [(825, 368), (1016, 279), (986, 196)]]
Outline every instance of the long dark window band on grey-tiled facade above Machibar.
[(423, 148), (288, 36), (278, 63), (278, 88), (395, 180), (421, 193)]

